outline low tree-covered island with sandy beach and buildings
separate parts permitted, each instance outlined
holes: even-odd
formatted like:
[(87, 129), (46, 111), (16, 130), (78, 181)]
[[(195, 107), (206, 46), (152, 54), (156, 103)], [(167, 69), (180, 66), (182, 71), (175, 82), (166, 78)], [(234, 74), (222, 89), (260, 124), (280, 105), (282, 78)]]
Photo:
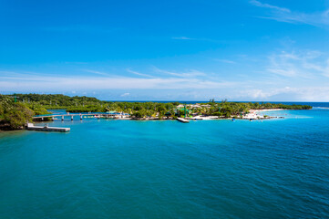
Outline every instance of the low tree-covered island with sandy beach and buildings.
[[(43, 118), (53, 120), (48, 110), (66, 110), (98, 118), (118, 120), (218, 120), (270, 119), (260, 115), (265, 110), (310, 110), (308, 105), (288, 105), (270, 102), (234, 102), (222, 99), (208, 102), (153, 102), (153, 101), (104, 101), (90, 97), (69, 97), (61, 94), (0, 95), (0, 130), (24, 129), (28, 122)], [(37, 117), (38, 116), (38, 117)]]

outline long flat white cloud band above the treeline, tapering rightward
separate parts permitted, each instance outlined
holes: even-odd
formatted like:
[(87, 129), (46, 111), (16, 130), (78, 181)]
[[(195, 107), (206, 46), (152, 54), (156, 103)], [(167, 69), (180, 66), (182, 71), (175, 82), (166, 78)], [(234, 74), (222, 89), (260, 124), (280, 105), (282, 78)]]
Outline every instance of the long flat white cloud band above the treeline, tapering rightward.
[[(41, 83), (40, 83), (41, 82)], [(217, 89), (234, 87), (236, 82), (211, 81), (198, 78), (131, 78), (131, 77), (55, 77), (55, 76), (0, 76), (0, 91), (34, 88), (36, 91), (81, 89)]]

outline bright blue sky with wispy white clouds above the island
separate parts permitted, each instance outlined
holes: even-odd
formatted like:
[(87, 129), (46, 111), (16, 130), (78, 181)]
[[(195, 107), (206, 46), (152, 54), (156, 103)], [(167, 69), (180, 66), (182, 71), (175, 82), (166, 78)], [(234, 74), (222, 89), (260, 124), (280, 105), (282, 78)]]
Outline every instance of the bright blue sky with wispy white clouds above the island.
[(0, 93), (329, 101), (329, 1), (0, 0)]

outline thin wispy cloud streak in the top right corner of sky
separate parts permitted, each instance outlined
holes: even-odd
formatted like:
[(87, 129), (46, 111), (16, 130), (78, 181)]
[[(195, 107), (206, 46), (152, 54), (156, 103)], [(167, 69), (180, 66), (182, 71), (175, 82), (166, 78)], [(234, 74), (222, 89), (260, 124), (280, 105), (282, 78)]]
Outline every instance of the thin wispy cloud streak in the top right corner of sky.
[(260, 1), (252, 0), (250, 4), (271, 9), (268, 16), (258, 16), (263, 19), (272, 19), (279, 22), (307, 24), (311, 26), (328, 26), (329, 25), (329, 9), (323, 12), (315, 12), (313, 14), (295, 12), (285, 7), (264, 4)]

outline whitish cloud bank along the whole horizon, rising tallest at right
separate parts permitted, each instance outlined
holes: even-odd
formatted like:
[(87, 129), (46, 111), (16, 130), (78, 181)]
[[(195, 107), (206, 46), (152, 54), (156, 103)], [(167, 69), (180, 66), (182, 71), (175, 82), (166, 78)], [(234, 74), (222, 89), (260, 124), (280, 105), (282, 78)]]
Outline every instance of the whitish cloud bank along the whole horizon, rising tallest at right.
[[(98, 77), (86, 74), (79, 77), (29, 74), (26, 71), (17, 73), (4, 69), (0, 71), (0, 93), (65, 92), (71, 95), (74, 90), (75, 95), (84, 92), (91, 94), (93, 91), (98, 94), (107, 92), (104, 96), (108, 97), (112, 93), (118, 99), (210, 99), (219, 96), (221, 99), (230, 100), (329, 99), (329, 87), (326, 88), (329, 57), (326, 54), (316, 50), (280, 51), (268, 58), (268, 66), (264, 67), (263, 71), (252, 72), (251, 75), (246, 72), (246, 77), (235, 77), (231, 80), (220, 77), (225, 75), (225, 72), (168, 70), (156, 67), (148, 71), (151, 75), (126, 68), (132, 74), (126, 73), (126, 77), (92, 69), (84, 71), (97, 74)], [(239, 73), (244, 72), (244, 69), (237, 70)]]

